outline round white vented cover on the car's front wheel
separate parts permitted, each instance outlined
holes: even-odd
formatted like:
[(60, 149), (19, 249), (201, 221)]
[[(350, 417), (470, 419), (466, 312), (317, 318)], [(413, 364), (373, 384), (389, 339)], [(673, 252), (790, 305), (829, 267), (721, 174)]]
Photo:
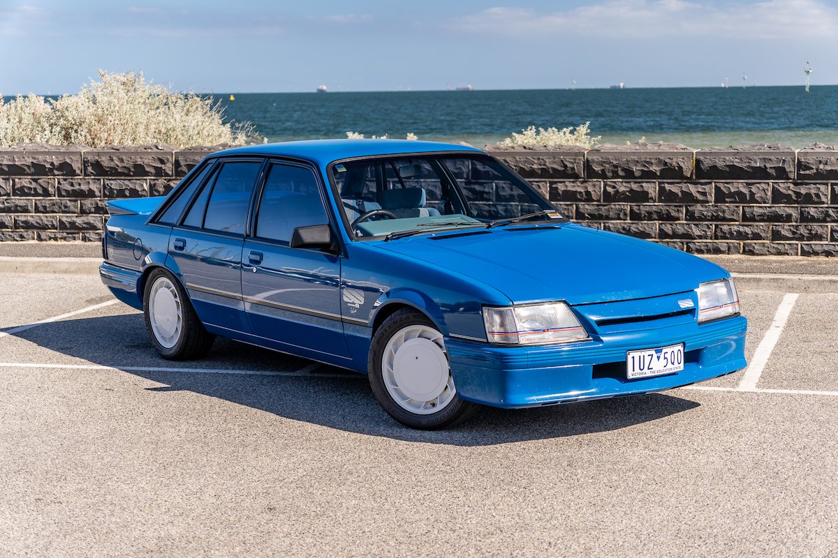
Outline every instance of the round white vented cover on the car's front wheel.
[(442, 334), (427, 325), (396, 331), (384, 348), (381, 375), (396, 403), (418, 415), (442, 411), (457, 394)]

